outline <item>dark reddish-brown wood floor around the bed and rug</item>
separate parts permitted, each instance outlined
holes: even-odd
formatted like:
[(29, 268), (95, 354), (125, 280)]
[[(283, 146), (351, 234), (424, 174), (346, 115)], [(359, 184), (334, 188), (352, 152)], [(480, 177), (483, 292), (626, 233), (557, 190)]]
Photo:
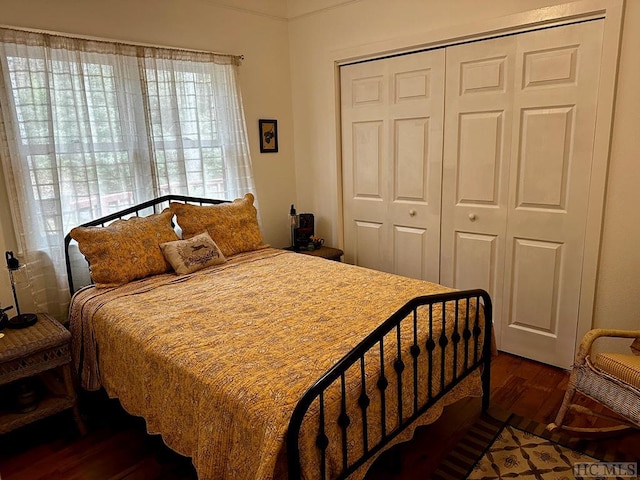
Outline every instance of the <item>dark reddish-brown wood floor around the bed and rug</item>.
[[(493, 363), (492, 406), (548, 423), (567, 379), (562, 370), (501, 353)], [(158, 436), (147, 435), (144, 422), (124, 413), (117, 401), (101, 394), (81, 400), (89, 427), (84, 437), (77, 434), (68, 412), (0, 436), (2, 480), (197, 478), (188, 458), (169, 450)], [(380, 457), (367, 480), (429, 478), (479, 412), (478, 399), (450, 406), (436, 423), (418, 429), (413, 440)], [(640, 452), (640, 432), (600, 441), (612, 442), (619, 451)]]

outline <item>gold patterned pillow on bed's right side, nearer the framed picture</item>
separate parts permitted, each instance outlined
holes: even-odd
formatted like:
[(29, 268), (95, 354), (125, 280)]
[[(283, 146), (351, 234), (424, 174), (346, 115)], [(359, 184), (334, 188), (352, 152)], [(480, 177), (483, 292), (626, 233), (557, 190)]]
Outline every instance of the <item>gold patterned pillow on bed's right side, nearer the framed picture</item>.
[(254, 196), (247, 193), (230, 203), (200, 206), (171, 202), (169, 207), (176, 214), (182, 238), (209, 232), (222, 253), (229, 257), (264, 246), (253, 201)]

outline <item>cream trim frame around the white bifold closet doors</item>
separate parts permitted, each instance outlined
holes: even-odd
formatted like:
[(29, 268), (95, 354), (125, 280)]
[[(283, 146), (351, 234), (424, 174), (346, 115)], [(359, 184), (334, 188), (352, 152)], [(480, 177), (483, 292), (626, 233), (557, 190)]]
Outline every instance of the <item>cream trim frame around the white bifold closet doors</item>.
[(560, 26), (585, 20), (604, 20), (598, 114), (593, 147), (593, 165), (585, 230), (580, 311), (576, 332), (576, 349), (582, 336), (592, 328), (595, 289), (598, 275), (601, 229), (607, 183), (607, 170), (611, 148), (611, 129), (618, 76), (624, 0), (580, 0), (576, 2), (538, 8), (495, 19), (478, 20), (464, 25), (426, 31), (418, 35), (368, 43), (328, 52), (327, 68), (333, 70), (335, 85), (334, 121), (336, 145), (336, 180), (339, 243), (344, 244), (342, 218), (342, 159), (340, 125), (340, 65), (361, 60), (372, 60), (388, 55), (410, 53), (427, 48), (444, 47), (472, 40), (481, 40), (544, 27)]

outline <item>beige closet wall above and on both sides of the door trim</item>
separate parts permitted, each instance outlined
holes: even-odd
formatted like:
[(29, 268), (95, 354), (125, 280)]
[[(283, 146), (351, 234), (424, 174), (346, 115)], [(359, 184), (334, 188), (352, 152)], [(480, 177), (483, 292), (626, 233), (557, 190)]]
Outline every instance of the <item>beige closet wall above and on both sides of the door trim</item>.
[[(339, 144), (334, 61), (353, 52), (406, 48), (448, 29), (561, 4), (552, 0), (363, 0), (290, 22), (298, 203), (316, 212), (328, 243), (340, 241)], [(535, 12), (531, 17), (535, 17)], [(429, 32), (435, 32), (430, 34)], [(446, 38), (446, 37), (443, 37)], [(607, 181), (596, 326), (640, 328), (640, 2), (626, 2)], [(628, 342), (627, 342), (628, 343)]]

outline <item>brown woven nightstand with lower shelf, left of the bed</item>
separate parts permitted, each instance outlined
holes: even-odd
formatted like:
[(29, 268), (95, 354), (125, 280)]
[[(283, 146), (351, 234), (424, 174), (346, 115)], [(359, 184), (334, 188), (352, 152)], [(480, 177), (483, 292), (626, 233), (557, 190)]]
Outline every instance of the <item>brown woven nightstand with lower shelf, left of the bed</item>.
[(0, 410), (0, 434), (71, 408), (78, 430), (84, 435), (86, 429), (71, 379), (71, 333), (42, 313), (38, 314), (34, 325), (17, 330), (5, 329), (2, 333), (0, 385), (39, 375), (46, 379), (47, 393), (39, 398), (32, 411)]

